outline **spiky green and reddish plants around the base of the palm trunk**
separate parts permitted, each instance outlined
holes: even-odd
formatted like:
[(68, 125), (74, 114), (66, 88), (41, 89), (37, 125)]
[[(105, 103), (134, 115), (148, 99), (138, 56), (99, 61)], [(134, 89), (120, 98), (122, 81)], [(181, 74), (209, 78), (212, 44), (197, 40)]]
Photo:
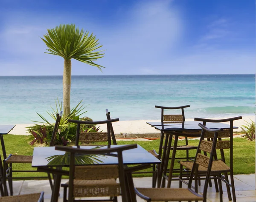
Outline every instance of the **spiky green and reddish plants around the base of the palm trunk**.
[[(87, 111), (84, 111), (83, 104), (81, 104), (82, 101), (79, 102), (79, 104), (76, 105), (76, 107), (73, 107), (73, 109), (70, 111), (69, 114), (63, 115), (61, 117), (61, 121), (58, 127), (58, 132), (56, 134), (56, 140), (55, 144), (61, 144), (66, 146), (68, 143), (70, 143), (73, 139), (76, 138), (76, 126), (75, 123), (70, 123), (67, 120), (68, 119), (74, 119), (79, 120), (79, 117), (86, 113)], [(55, 109), (52, 107), (52, 112), (47, 111), (47, 113), (52, 117), (54, 121), (56, 121), (56, 114), (59, 113), (62, 110), (62, 102), (60, 103), (59, 100), (55, 102)], [(27, 132), (31, 133), (32, 136), (35, 137), (35, 139), (30, 143), (34, 144), (35, 141), (38, 141), (40, 143), (43, 142), (49, 142), (52, 137), (52, 131), (54, 128), (54, 123), (50, 123), (46, 118), (44, 118), (41, 114), (37, 113), (43, 121), (34, 121), (34, 125), (28, 126)], [(83, 119), (83, 118), (82, 118)], [(90, 128), (88, 128), (90, 129)], [(42, 141), (43, 140), (43, 141)]]

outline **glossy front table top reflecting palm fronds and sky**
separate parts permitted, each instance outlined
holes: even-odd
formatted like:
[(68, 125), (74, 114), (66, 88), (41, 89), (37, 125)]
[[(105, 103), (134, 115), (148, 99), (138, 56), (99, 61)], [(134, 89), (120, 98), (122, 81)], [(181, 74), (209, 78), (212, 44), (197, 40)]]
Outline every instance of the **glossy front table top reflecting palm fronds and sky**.
[[(119, 147), (123, 145), (111, 145), (113, 147)], [(75, 147), (76, 148), (76, 147)], [(80, 146), (82, 149), (96, 149), (97, 146)], [(100, 149), (106, 149), (107, 146), (98, 147)], [(117, 157), (114, 156), (117, 153), (106, 154), (103, 156), (94, 155), (81, 155), (76, 156), (77, 164), (79, 165), (92, 165), (92, 164), (117, 164)], [(111, 156), (112, 155), (112, 156)], [(52, 158), (52, 160), (49, 159)], [(123, 151), (124, 164), (157, 164), (160, 160), (154, 157), (151, 153), (148, 153), (140, 145), (137, 148)], [(55, 150), (55, 147), (35, 147), (33, 153), (32, 167), (54, 167), (54, 166), (68, 166), (69, 155), (64, 151)]]

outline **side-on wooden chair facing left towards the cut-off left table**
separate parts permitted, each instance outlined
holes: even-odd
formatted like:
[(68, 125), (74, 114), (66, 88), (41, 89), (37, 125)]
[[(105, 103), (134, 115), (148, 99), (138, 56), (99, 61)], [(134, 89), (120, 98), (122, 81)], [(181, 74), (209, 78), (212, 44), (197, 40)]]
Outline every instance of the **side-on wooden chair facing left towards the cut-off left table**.
[[(55, 126), (52, 132), (52, 138), (50, 142), (50, 147), (54, 146), (55, 139), (56, 139), (56, 133), (58, 131), (58, 126), (61, 121), (61, 115), (62, 111), (56, 115), (56, 121), (55, 121)], [(3, 186), (4, 186), (4, 191), (5, 191), (5, 196), (8, 196), (8, 190), (7, 190), (7, 185), (6, 185), (6, 180), (9, 182), (9, 190), (10, 190), (10, 195), (13, 195), (13, 187), (12, 187), (12, 180), (13, 179), (42, 179), (42, 178), (48, 178), (51, 188), (52, 188), (52, 180), (51, 176), (48, 173), (48, 176), (40, 176), (40, 177), (13, 177), (13, 173), (24, 173), (24, 172), (29, 172), (29, 173), (34, 173), (38, 172), (37, 170), (13, 170), (13, 165), (12, 164), (17, 164), (17, 163), (26, 163), (26, 164), (32, 164), (32, 158), (33, 156), (25, 156), (25, 155), (12, 155), (10, 154), (6, 158), (6, 150), (5, 148), (3, 149)]]

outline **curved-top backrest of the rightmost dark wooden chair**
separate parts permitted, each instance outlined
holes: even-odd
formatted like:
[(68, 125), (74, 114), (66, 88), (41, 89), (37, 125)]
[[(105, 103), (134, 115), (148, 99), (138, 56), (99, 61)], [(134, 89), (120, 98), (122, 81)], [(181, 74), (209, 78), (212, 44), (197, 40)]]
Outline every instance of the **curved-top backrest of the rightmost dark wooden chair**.
[[(229, 122), (230, 128), (224, 129), (218, 134), (218, 142), (216, 149), (220, 149), (221, 151), (221, 159), (225, 163), (225, 156), (223, 149), (230, 149), (230, 169), (233, 170), (233, 121), (242, 119), (241, 116), (233, 117), (233, 118), (225, 118), (225, 119), (206, 119), (206, 118), (194, 118), (195, 121), (202, 121), (203, 125), (207, 126), (208, 123), (222, 123)], [(208, 141), (212, 140), (213, 136), (206, 132), (204, 138)], [(230, 138), (229, 140), (222, 140), (221, 138)], [(217, 159), (217, 155), (215, 155), (215, 159)]]

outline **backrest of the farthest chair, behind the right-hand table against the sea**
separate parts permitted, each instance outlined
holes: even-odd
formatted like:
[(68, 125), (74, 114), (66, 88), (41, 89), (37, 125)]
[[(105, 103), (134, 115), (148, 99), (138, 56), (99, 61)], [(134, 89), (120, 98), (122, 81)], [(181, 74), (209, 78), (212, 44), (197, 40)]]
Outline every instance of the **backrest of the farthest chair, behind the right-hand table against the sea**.
[[(180, 107), (163, 107), (155, 106), (161, 109), (161, 122), (182, 122), (185, 121), (184, 108), (190, 107), (190, 105), (180, 106)], [(164, 110), (181, 110), (181, 114), (165, 114)]]

